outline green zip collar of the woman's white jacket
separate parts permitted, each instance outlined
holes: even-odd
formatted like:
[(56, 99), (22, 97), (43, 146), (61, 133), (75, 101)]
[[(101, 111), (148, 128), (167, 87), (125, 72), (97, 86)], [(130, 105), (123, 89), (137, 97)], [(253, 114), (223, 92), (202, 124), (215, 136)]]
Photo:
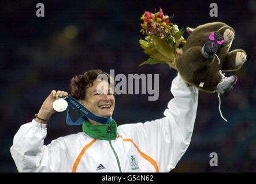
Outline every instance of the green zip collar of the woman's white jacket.
[[(95, 139), (109, 140), (108, 129), (109, 124), (91, 125), (88, 121), (83, 123), (83, 132)], [(110, 140), (115, 140), (117, 137), (117, 124), (114, 119), (110, 122), (110, 129)]]

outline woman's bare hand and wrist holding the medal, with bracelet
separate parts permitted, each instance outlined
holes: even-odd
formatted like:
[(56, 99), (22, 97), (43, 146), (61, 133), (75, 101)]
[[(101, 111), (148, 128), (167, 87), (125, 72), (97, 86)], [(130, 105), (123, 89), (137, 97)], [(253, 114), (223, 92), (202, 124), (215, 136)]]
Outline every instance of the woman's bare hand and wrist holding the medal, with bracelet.
[(41, 106), (41, 109), (38, 112), (38, 117), (42, 120), (39, 120), (39, 118), (36, 118), (37, 122), (46, 124), (49, 118), (52, 114), (54, 114), (56, 111), (53, 109), (53, 102), (58, 97), (66, 97), (68, 96), (68, 93), (66, 91), (55, 91), (52, 90), (50, 95), (44, 100), (43, 105)]

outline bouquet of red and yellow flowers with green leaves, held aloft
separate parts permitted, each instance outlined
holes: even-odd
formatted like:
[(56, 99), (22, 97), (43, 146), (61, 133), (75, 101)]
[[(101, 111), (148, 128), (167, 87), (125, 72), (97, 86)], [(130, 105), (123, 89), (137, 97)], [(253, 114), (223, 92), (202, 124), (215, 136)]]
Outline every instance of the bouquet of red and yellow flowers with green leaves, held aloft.
[(176, 24), (173, 24), (172, 17), (165, 16), (160, 8), (157, 13), (145, 13), (140, 18), (143, 20), (142, 34), (147, 36), (144, 40), (140, 39), (140, 47), (144, 49), (144, 53), (150, 55), (150, 58), (143, 64), (167, 63), (170, 67), (175, 68), (176, 48), (180, 44), (185, 44), (183, 38), (184, 30), (179, 29)]

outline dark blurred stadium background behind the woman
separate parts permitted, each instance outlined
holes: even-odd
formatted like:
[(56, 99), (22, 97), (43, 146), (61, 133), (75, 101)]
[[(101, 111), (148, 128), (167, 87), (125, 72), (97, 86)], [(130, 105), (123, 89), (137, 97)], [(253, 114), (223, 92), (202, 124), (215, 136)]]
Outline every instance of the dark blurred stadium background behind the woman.
[[(44, 3), (44, 17), (36, 4)], [(210, 17), (210, 3), (218, 17)], [(139, 47), (144, 10), (175, 14), (179, 28), (222, 21), (236, 30), (232, 49), (247, 52), (247, 62), (235, 74), (238, 83), (227, 98), (199, 92), (198, 114), (190, 147), (172, 172), (255, 172), (255, 40), (256, 2), (249, 1), (1, 1), (0, 2), (0, 171), (17, 172), (10, 147), (18, 128), (32, 120), (51, 90), (69, 92), (72, 76), (90, 69), (115, 74), (159, 74), (159, 99), (148, 95), (117, 95), (113, 118), (118, 124), (163, 117), (172, 98), (170, 84), (177, 72), (166, 64), (139, 64), (148, 56)], [(77, 33), (77, 34), (76, 34)], [(186, 39), (188, 34), (184, 33)], [(75, 116), (75, 115), (74, 115)], [(44, 144), (82, 131), (69, 127), (66, 113), (55, 113)], [(210, 167), (209, 155), (218, 154)]]

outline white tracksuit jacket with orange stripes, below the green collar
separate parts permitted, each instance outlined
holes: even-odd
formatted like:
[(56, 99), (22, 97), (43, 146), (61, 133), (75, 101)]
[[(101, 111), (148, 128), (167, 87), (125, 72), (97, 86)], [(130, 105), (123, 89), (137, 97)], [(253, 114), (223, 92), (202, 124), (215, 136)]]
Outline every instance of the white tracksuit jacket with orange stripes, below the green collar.
[[(169, 172), (190, 140), (198, 89), (173, 79), (174, 96), (161, 119), (117, 127), (117, 138), (97, 140), (80, 132), (43, 145), (46, 125), (32, 120), (20, 127), (10, 152), (19, 172)], [(150, 112), (149, 112), (150, 113)], [(115, 154), (114, 154), (115, 152)]]

